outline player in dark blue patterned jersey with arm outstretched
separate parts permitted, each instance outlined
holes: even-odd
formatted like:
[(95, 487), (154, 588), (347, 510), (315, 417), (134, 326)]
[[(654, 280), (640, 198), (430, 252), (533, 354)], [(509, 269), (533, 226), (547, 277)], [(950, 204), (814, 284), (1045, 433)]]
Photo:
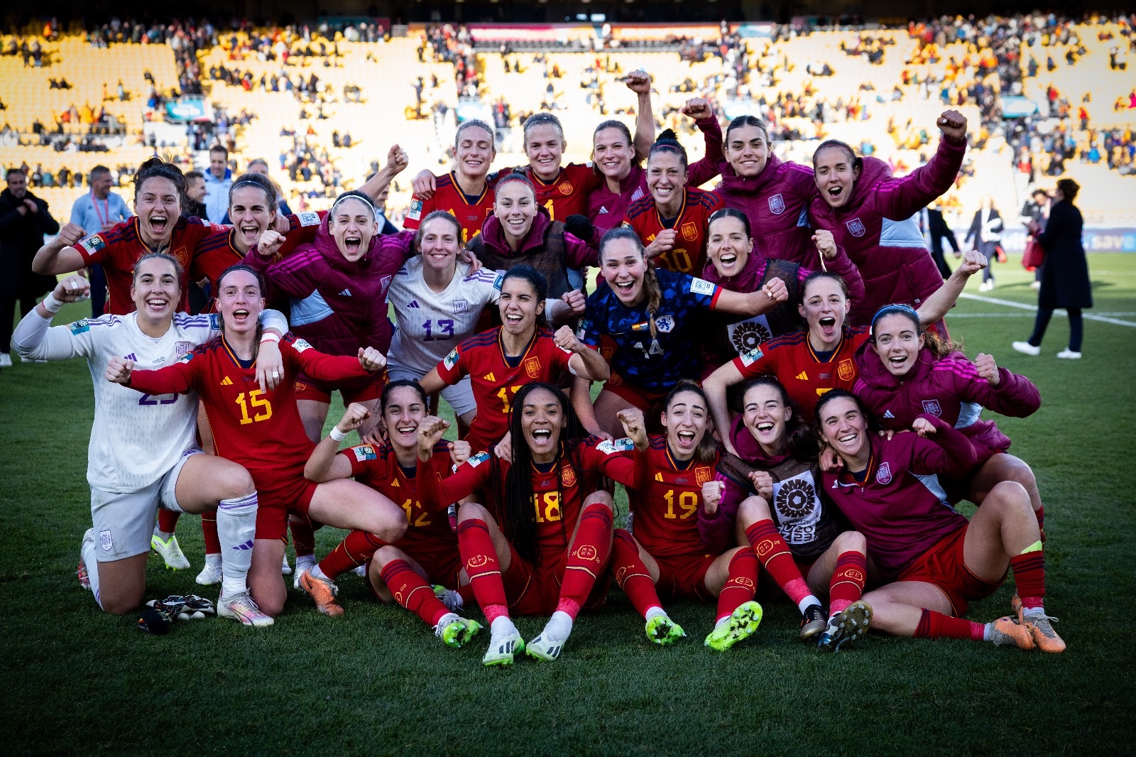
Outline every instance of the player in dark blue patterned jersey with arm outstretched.
[(612, 228), (600, 242), (604, 283), (587, 298), (580, 340), (592, 349), (609, 336), (616, 344), (611, 378), (595, 400), (593, 426), (618, 436), (619, 410), (648, 411), (679, 378), (698, 378), (701, 339), (694, 314), (725, 310), (755, 316), (787, 297), (775, 278), (759, 292), (730, 292), (710, 282), (648, 265), (646, 249), (630, 228)]

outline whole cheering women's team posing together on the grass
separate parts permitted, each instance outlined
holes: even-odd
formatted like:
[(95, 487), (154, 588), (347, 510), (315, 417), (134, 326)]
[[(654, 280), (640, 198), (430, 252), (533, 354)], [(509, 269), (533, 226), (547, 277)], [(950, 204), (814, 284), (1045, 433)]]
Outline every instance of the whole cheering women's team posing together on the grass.
[[(326, 213), (277, 215), (272, 182), (245, 174), (232, 226), (183, 216), (184, 177), (154, 158), (136, 217), (69, 224), (40, 250), (37, 272), (70, 275), (12, 343), (90, 365), (78, 576), (105, 610), (142, 604), (151, 549), (189, 567), (173, 532), (191, 513), (219, 615), (273, 624), (291, 533), (295, 587), (321, 613), (344, 612), (336, 581), (357, 572), (461, 647), (476, 604), (486, 665), (556, 659), (612, 580), (659, 644), (686, 635), (676, 598), (716, 604), (713, 649), (754, 634), (762, 582), (824, 649), (869, 629), (1064, 649), (1037, 483), (982, 417), (1041, 397), (959, 351), (944, 316), (986, 260), (968, 252), (944, 281), (912, 221), (954, 181), (966, 119), (943, 113), (929, 163), (893, 178), (836, 141), (812, 168), (779, 161), (760, 120), (722, 135), (694, 99), (707, 157), (687, 165), (653, 134), (646, 75), (627, 81), (648, 118), (634, 135), (600, 124), (586, 166), (561, 165), (550, 114), (525, 124), (529, 164), (496, 173), (492, 127), (461, 124), (453, 169), (416, 177), (408, 231), (379, 234), (374, 205), (407, 165), (398, 147)], [(51, 326), (92, 263), (108, 314)], [(208, 282), (202, 315), (191, 281)], [(323, 436), (335, 390), (345, 413)], [(317, 559), (321, 526), (348, 534)], [(1010, 569), (1012, 612), (966, 619)], [(551, 617), (526, 641), (517, 615)]]

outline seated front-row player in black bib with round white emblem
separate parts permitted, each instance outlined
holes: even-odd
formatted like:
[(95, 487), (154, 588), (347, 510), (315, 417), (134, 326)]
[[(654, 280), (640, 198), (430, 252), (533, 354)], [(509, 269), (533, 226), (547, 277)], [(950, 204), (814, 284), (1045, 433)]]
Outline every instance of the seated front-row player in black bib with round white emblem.
[[(801, 610), (803, 641), (838, 650), (867, 633), (861, 601), (868, 574), (863, 535), (821, 488), (817, 440), (772, 376), (749, 380), (743, 413), (729, 429), (738, 458), (726, 456), (703, 484), (699, 531), (711, 548), (753, 547), (762, 566)], [(828, 597), (825, 615), (820, 599)]]

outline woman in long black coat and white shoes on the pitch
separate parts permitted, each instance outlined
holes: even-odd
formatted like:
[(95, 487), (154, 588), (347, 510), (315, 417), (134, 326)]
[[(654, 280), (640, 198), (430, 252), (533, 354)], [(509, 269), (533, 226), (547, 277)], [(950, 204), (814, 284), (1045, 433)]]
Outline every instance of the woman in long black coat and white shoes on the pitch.
[[(1050, 325), (1054, 308), (1069, 311), (1069, 347), (1058, 352), (1059, 358), (1077, 359), (1080, 357), (1080, 342), (1084, 334), (1081, 308), (1093, 307), (1093, 288), (1088, 280), (1088, 260), (1085, 258), (1085, 247), (1080, 234), (1085, 222), (1080, 210), (1072, 203), (1080, 186), (1071, 178), (1058, 182), (1053, 194), (1053, 207), (1045, 231), (1037, 235), (1037, 241), (1045, 248), (1045, 263), (1042, 264), (1042, 288), (1037, 294), (1037, 321), (1034, 323), (1034, 334), (1025, 342), (1014, 342), (1013, 349), (1026, 355), (1038, 355), (1042, 351), (1042, 338)], [(1030, 233), (1036, 233), (1036, 224), (1027, 225)]]

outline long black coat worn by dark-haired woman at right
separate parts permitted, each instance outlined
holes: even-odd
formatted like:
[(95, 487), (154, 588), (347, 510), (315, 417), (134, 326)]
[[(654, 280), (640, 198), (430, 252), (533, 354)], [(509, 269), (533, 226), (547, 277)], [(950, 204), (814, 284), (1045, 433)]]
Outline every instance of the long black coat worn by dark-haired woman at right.
[(1072, 202), (1061, 200), (1050, 208), (1050, 219), (1037, 241), (1045, 248), (1042, 289), (1037, 305), (1043, 308), (1091, 308), (1093, 286), (1080, 234), (1085, 222)]

